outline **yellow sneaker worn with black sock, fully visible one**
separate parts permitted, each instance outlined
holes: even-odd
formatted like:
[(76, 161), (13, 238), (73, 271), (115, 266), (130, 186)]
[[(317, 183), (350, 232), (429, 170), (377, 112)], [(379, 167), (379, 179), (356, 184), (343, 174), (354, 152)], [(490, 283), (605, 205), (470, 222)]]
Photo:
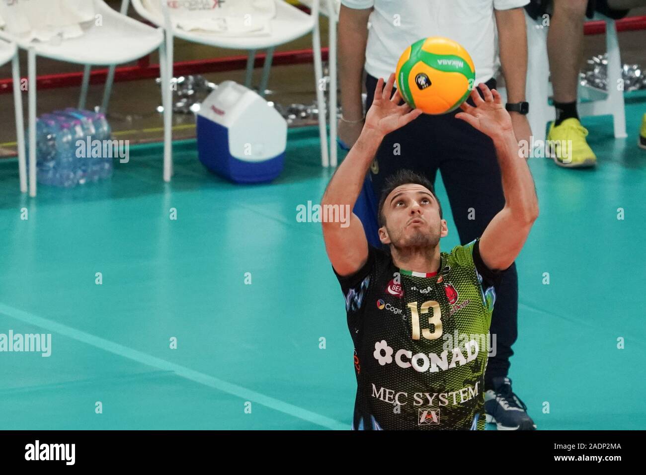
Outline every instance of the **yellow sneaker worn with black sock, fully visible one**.
[(565, 119), (557, 127), (552, 122), (547, 134), (546, 155), (561, 167), (594, 167), (597, 157), (585, 140), (587, 136), (588, 130), (578, 119)]

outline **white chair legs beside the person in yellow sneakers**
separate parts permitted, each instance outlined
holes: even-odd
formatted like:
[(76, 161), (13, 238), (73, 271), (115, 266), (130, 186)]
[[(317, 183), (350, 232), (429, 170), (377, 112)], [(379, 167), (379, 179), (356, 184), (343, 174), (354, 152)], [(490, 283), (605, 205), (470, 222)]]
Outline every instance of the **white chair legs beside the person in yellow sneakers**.
[[(545, 127), (548, 122), (555, 120), (554, 107), (548, 104), (552, 96), (550, 84), (550, 64), (547, 56), (548, 28), (535, 21), (525, 12), (527, 25), (528, 67), (527, 67), (527, 100), (530, 112), (527, 115), (534, 140), (545, 141)], [(621, 79), (621, 53), (614, 20), (596, 16), (606, 22), (606, 48), (608, 52), (608, 91), (579, 87), (578, 111), (579, 116), (612, 115), (614, 136), (625, 138), (626, 116), (623, 103), (623, 90), (618, 87)], [(623, 88), (622, 88), (623, 89)], [(587, 102), (581, 102), (587, 99)]]

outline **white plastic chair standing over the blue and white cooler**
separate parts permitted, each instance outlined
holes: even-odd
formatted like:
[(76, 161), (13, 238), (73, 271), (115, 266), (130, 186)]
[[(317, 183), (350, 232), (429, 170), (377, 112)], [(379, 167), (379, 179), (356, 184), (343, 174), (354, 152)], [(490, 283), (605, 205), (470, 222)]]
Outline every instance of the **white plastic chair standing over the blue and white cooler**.
[[(124, 0), (127, 2), (128, 0)], [(161, 1), (161, 0), (160, 0)], [(318, 128), (321, 142), (321, 162), (324, 167), (329, 165), (328, 156), (328, 142), (326, 140), (326, 124), (325, 124), (325, 102), (323, 97), (323, 90), (319, 87), (323, 77), (323, 67), (320, 52), (320, 32), (318, 29), (318, 3), (319, 0), (313, 0), (311, 15), (298, 10), (293, 5), (289, 5), (283, 0), (276, 0), (276, 16), (271, 19), (271, 34), (268, 36), (247, 36), (247, 37), (231, 37), (231, 36), (218, 36), (216, 34), (209, 34), (200, 31), (187, 31), (182, 28), (175, 28), (172, 26), (171, 18), (167, 6), (167, 1), (161, 1), (161, 10), (159, 12), (152, 12), (145, 8), (141, 0), (132, 0), (132, 6), (143, 18), (150, 21), (153, 25), (162, 26), (166, 30), (166, 52), (167, 52), (167, 69), (165, 73), (167, 78), (164, 81), (165, 92), (167, 93), (167, 100), (171, 103), (171, 89), (170, 79), (172, 78), (172, 65), (173, 65), (173, 37), (178, 37), (193, 43), (200, 43), (202, 45), (209, 45), (219, 48), (232, 48), (244, 49), (249, 51), (249, 58), (247, 60), (247, 80), (245, 85), (251, 85), (251, 73), (253, 72), (253, 63), (255, 60), (255, 52), (258, 49), (267, 48), (267, 56), (265, 59), (262, 80), (260, 82), (260, 93), (263, 94), (267, 87), (269, 78), (269, 71), (271, 69), (271, 61), (273, 59), (274, 48), (289, 41), (293, 41), (299, 37), (305, 36), (309, 32), (313, 36), (313, 51), (314, 51), (314, 69), (316, 76), (317, 86), (317, 101), (319, 109)], [(167, 108), (165, 108), (167, 109)], [(166, 147), (171, 143), (171, 129), (166, 128), (164, 142)], [(172, 159), (171, 159), (172, 164)]]

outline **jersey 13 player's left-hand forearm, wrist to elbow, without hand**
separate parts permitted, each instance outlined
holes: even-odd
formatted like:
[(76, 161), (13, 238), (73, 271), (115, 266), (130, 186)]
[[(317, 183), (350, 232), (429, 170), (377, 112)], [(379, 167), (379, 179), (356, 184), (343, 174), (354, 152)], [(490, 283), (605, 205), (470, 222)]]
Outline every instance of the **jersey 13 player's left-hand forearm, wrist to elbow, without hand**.
[(375, 158), (383, 136), (364, 127), (359, 140), (339, 165), (326, 189), (322, 204), (355, 206), (370, 164)]

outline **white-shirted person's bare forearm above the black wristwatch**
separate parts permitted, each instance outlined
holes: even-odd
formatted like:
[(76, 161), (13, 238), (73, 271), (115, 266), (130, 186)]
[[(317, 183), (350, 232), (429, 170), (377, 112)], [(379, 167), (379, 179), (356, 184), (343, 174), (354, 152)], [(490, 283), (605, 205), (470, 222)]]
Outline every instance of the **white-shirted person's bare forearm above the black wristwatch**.
[(525, 101), (527, 77), (527, 31), (523, 8), (495, 10), (500, 65), (505, 76), (507, 102)]

